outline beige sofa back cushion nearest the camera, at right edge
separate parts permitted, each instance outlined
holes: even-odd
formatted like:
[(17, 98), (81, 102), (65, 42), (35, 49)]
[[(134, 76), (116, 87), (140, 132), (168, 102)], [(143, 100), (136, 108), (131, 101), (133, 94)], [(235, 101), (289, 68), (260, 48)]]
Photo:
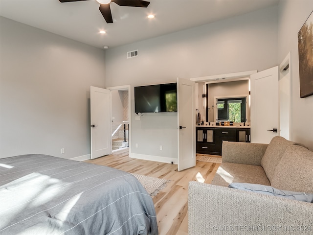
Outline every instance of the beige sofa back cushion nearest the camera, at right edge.
[(271, 186), (313, 193), (313, 152), (300, 145), (288, 146), (273, 174)]

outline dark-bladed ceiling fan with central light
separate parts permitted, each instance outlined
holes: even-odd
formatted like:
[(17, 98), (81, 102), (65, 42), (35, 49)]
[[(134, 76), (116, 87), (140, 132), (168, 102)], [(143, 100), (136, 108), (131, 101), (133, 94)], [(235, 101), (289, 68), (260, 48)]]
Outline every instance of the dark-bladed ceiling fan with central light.
[[(85, 1), (85, 0), (59, 0), (60, 2)], [(119, 6), (147, 7), (150, 1), (144, 0), (97, 0), (100, 3), (99, 10), (107, 23), (113, 23), (110, 2), (115, 2)]]

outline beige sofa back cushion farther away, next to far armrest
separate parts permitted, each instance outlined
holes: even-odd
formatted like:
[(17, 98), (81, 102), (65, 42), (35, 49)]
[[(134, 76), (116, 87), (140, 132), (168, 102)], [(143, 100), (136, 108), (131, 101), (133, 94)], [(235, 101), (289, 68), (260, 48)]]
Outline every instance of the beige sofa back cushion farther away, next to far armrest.
[(266, 176), (268, 177), (270, 182), (272, 181), (275, 168), (282, 158), (286, 148), (292, 144), (295, 143), (292, 141), (287, 141), (285, 138), (280, 136), (275, 136), (269, 142), (268, 147), (261, 160), (261, 166), (263, 167)]

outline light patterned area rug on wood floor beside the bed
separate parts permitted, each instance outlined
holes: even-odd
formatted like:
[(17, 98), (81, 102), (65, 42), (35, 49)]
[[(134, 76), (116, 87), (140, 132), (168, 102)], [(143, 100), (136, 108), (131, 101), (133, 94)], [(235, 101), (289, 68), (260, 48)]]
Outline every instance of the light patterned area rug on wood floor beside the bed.
[(142, 184), (143, 188), (150, 194), (150, 196), (154, 197), (156, 194), (166, 187), (166, 184), (170, 182), (170, 180), (159, 179), (155, 177), (145, 176), (145, 175), (138, 175), (133, 174), (134, 177), (139, 180)]

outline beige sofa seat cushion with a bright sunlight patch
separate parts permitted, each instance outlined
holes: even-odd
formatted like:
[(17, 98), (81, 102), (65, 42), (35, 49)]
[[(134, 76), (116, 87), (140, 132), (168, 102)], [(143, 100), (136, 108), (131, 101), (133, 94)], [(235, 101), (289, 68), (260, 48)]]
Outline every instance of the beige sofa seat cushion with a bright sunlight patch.
[(233, 182), (270, 185), (262, 166), (238, 163), (221, 164), (211, 184), (228, 187)]

